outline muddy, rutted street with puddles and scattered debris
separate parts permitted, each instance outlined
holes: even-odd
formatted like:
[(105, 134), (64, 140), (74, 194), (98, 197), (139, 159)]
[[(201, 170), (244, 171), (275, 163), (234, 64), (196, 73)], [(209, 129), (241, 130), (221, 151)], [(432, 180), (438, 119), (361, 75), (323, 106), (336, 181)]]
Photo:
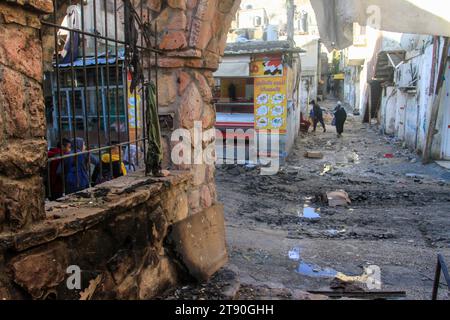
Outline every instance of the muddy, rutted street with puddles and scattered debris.
[[(323, 158), (307, 159), (307, 151)], [(382, 290), (429, 299), (436, 256), (450, 253), (449, 171), (423, 166), (401, 142), (356, 117), (342, 139), (332, 126), (297, 139), (276, 176), (224, 166), (216, 179), (241, 284), (327, 291), (337, 273), (360, 276), (376, 265)], [(323, 202), (336, 190), (351, 204)]]

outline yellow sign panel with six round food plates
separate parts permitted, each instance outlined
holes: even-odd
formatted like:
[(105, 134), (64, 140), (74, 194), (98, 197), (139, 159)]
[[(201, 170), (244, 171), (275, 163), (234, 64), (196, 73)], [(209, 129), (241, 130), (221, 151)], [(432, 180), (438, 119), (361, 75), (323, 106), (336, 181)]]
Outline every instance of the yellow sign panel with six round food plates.
[(255, 79), (255, 128), (258, 131), (287, 129), (286, 77)]

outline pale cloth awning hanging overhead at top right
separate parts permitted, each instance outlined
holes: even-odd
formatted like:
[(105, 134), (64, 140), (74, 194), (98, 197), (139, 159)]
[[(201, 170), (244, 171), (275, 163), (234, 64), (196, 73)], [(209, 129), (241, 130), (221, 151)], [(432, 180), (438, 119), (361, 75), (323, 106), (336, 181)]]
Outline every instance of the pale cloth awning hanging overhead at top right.
[[(448, 0), (311, 0), (329, 49), (353, 44), (353, 23), (375, 29), (450, 36)], [(374, 26), (377, 24), (377, 26)]]

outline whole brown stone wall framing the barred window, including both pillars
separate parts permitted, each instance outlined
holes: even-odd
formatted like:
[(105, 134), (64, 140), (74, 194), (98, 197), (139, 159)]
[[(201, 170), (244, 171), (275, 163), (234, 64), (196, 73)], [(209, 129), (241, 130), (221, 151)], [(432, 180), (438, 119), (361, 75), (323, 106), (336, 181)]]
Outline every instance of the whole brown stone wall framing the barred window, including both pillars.
[[(149, 299), (223, 266), (214, 166), (171, 163), (170, 133), (192, 131), (196, 121), (213, 128), (212, 72), (239, 2), (135, 1), (158, 24), (160, 113), (174, 116), (163, 141), (172, 174), (129, 175), (44, 208), (39, 17), (52, 1), (0, 0), (0, 300)], [(80, 290), (67, 287), (69, 266), (81, 270)]]

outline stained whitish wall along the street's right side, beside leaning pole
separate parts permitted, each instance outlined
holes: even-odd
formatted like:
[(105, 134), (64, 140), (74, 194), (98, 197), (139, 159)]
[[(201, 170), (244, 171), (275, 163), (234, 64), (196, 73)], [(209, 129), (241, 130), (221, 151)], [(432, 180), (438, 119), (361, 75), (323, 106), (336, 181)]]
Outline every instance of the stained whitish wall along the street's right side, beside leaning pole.
[[(418, 153), (425, 148), (429, 128), (431, 108), (435, 97), (434, 88), (437, 84), (438, 66), (433, 61), (432, 38), (420, 35), (404, 35), (401, 43), (408, 49), (406, 61), (398, 68), (395, 75), (395, 85), (388, 87), (387, 94), (381, 104), (381, 125), (387, 134), (394, 134), (405, 141), (406, 146)], [(425, 45), (424, 45), (425, 44)], [(440, 59), (443, 54), (443, 41), (436, 51)], [(435, 74), (433, 78), (433, 68)], [(448, 71), (447, 71), (448, 73)], [(415, 76), (414, 76), (415, 75)], [(411, 83), (412, 79), (416, 79)], [(444, 90), (447, 90), (444, 85)], [(445, 97), (447, 91), (443, 93)], [(445, 106), (441, 101), (438, 123), (432, 146), (432, 157), (441, 159), (442, 128)]]

